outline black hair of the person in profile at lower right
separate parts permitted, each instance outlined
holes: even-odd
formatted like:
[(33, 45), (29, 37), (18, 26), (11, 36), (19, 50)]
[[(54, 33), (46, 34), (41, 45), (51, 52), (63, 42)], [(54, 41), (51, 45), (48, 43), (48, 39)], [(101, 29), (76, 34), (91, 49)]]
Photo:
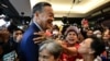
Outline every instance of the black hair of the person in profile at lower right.
[(97, 37), (95, 37), (95, 36), (92, 36), (92, 37), (90, 37), (91, 39), (92, 39), (92, 42), (91, 42), (91, 49), (94, 49), (95, 50), (95, 53), (94, 53), (94, 56), (95, 56), (95, 58), (97, 57), (97, 56), (100, 56), (106, 49), (106, 46), (105, 46), (105, 42), (103, 42), (103, 40), (101, 40), (101, 39), (99, 39), (99, 38), (97, 38)]

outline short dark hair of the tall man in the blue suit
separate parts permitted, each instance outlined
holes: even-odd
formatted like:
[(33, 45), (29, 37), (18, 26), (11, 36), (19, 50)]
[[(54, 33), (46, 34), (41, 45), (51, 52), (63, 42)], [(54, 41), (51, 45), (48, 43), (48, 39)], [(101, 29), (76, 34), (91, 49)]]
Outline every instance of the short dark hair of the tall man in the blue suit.
[(48, 2), (38, 2), (38, 3), (36, 3), (36, 4), (33, 7), (33, 14), (34, 14), (36, 11), (42, 12), (43, 7), (46, 7), (46, 5), (52, 7), (52, 4), (50, 4)]

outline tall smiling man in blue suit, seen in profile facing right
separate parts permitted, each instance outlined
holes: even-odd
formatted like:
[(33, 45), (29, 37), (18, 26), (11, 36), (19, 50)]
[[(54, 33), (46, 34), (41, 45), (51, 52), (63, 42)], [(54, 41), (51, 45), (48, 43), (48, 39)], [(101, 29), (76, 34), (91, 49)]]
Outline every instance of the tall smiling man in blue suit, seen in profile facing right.
[(25, 30), (20, 44), (21, 61), (38, 61), (38, 42), (44, 38), (42, 37), (44, 35), (38, 35), (38, 33), (52, 28), (53, 20), (54, 13), (50, 3), (38, 2), (33, 7), (32, 23)]

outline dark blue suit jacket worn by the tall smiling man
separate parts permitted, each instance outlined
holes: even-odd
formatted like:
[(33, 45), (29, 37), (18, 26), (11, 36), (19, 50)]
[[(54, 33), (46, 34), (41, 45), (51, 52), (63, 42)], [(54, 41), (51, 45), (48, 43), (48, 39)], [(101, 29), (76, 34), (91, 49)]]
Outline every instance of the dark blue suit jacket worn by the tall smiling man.
[(33, 41), (35, 32), (40, 32), (40, 28), (32, 23), (30, 27), (25, 30), (23, 39), (20, 44), (21, 61), (38, 61), (38, 45)]

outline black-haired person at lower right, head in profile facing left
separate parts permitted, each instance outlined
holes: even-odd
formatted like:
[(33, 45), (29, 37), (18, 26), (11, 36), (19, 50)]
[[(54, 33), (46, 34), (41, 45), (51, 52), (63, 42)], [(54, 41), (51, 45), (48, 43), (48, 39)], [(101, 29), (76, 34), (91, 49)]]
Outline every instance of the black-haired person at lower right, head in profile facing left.
[(84, 61), (101, 61), (100, 54), (105, 51), (105, 44), (97, 37), (89, 37), (80, 42), (78, 52), (82, 56)]

